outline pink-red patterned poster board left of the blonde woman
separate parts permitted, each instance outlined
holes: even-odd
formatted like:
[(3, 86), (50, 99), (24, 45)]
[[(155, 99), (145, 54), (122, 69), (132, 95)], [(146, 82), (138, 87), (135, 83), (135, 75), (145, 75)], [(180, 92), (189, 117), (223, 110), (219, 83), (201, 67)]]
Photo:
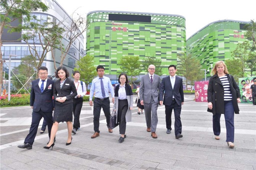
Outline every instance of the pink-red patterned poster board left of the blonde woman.
[(194, 96), (196, 101), (207, 102), (207, 88), (209, 80), (194, 82)]

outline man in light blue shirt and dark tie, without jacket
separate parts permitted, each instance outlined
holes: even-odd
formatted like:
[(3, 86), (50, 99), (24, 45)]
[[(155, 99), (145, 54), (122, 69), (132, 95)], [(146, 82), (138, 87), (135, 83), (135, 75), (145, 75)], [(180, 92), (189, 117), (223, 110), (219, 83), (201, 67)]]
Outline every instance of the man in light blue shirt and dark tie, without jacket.
[(100, 134), (99, 131), (99, 119), (100, 119), (100, 110), (101, 108), (104, 111), (107, 127), (109, 128), (109, 133), (112, 133), (113, 130), (110, 128), (110, 101), (109, 101), (109, 91), (112, 96), (112, 102), (114, 103), (114, 90), (111, 84), (109, 77), (104, 76), (105, 68), (103, 66), (97, 66), (96, 68), (98, 77), (92, 80), (92, 86), (90, 89), (90, 106), (92, 106), (92, 97), (95, 92), (94, 101), (93, 101), (93, 125), (94, 125), (94, 134), (91, 138), (97, 138)]

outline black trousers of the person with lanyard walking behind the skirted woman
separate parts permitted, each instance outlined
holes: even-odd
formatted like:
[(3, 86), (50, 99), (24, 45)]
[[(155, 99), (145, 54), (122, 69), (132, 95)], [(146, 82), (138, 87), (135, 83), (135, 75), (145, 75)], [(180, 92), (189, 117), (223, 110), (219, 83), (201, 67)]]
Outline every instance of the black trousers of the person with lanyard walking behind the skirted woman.
[(73, 128), (78, 130), (80, 128), (80, 113), (83, 107), (83, 98), (73, 99), (73, 114), (74, 114), (74, 124)]

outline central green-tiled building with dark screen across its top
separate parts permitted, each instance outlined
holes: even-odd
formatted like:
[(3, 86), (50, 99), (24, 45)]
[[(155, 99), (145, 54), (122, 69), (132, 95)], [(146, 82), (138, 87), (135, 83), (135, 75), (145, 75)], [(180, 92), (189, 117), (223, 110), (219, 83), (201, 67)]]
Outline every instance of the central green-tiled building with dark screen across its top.
[(177, 55), (185, 51), (183, 16), (123, 11), (87, 14), (86, 54), (94, 56), (94, 65), (103, 65), (111, 79), (122, 72), (123, 56), (139, 56), (141, 62), (150, 56), (160, 58), (164, 75), (169, 75), (168, 66), (177, 64)]

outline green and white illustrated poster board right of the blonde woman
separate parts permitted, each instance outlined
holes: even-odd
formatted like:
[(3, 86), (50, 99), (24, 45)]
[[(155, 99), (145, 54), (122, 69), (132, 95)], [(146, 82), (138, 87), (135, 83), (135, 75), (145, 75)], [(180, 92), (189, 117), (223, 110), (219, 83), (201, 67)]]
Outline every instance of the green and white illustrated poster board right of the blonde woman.
[(240, 94), (241, 94), (241, 103), (253, 103), (253, 98), (251, 96), (251, 85), (253, 85), (253, 80), (255, 80), (256, 77), (243, 77), (238, 79), (238, 84), (240, 88)]

